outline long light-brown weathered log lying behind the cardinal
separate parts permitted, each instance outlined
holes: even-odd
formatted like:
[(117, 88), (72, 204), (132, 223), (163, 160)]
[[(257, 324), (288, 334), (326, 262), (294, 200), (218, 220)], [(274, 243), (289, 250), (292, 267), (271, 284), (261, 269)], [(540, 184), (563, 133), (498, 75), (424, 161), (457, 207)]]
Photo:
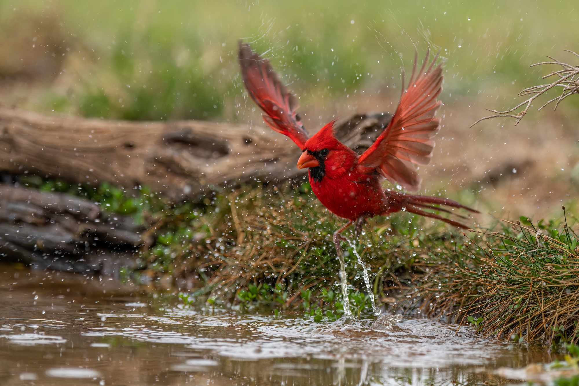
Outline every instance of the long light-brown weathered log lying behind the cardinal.
[[(390, 118), (355, 115), (336, 133), (361, 151)], [(3, 172), (125, 188), (148, 185), (170, 198), (184, 199), (219, 185), (300, 176), (304, 172), (295, 167), (298, 157), (295, 144), (269, 128), (204, 121), (106, 121), (0, 108)], [(76, 207), (75, 202), (54, 205), (71, 205), (89, 219), (94, 216), (93, 209)], [(34, 217), (27, 210), (21, 207), (13, 215)]]

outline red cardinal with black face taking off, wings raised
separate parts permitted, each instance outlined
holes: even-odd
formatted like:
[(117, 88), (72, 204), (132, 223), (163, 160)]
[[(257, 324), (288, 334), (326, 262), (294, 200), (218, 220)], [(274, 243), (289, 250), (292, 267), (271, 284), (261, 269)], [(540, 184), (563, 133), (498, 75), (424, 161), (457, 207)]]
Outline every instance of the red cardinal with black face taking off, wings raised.
[(429, 53), (418, 72), (415, 61), (408, 89), (402, 93), (389, 125), (367, 151), (358, 155), (336, 139), (334, 122), (309, 138), (296, 113), (298, 101), (280, 82), (269, 60), (253, 52), (249, 44), (240, 42), (243, 82), (251, 99), (265, 112), (263, 120), (299, 146), (302, 155), (298, 169), (309, 168), (314, 194), (330, 212), (349, 220), (334, 234), (340, 263), (343, 262), (340, 233), (354, 223), (357, 237), (368, 217), (405, 210), (467, 228), (423, 209), (452, 213), (434, 204), (477, 212), (449, 199), (409, 195), (382, 187), (382, 181), (387, 179), (405, 190), (419, 190), (421, 179), (412, 164), (430, 162), (434, 148), (431, 138), (440, 128), (440, 118), (435, 114), (442, 104), (437, 100), (442, 91), (442, 67), (434, 65), (438, 56), (428, 65), (428, 56)]

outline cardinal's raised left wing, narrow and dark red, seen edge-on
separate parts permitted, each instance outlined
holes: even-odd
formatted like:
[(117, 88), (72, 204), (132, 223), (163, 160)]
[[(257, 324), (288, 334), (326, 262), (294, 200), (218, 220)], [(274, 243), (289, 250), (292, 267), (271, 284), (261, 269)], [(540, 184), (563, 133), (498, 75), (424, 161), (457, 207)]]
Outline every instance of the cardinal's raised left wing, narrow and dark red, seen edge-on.
[(239, 65), (247, 93), (265, 112), (263, 121), (276, 132), (290, 137), (303, 150), (308, 136), (302, 119), (295, 112), (298, 101), (280, 82), (269, 60), (253, 52), (248, 43), (240, 41)]

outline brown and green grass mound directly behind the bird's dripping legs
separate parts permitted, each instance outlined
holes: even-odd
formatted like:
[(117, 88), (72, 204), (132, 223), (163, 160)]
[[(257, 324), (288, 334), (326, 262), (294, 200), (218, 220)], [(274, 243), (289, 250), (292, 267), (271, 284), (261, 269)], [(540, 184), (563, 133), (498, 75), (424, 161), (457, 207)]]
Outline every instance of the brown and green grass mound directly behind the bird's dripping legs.
[[(301, 303), (306, 290), (314, 299), (324, 290), (333, 290), (339, 302), (339, 263), (332, 234), (343, 221), (306, 192), (308, 187), (254, 187), (217, 195), (197, 209), (191, 221), (187, 213), (192, 209), (171, 209), (173, 214), (164, 218), (159, 245), (148, 252), (150, 269), (157, 276), (172, 273), (181, 288), (195, 296), (226, 303), (242, 301), (239, 293), (251, 286), (283, 288), (287, 297), (282, 308), (290, 311)], [(358, 252), (371, 271), (379, 300), (390, 301), (413, 285), (414, 270), (422, 272), (415, 264), (420, 256), (441, 244), (452, 244), (452, 236), (440, 232), (444, 228), (409, 213), (370, 221)], [(346, 247), (346, 264), (350, 292), (365, 297), (361, 270), (350, 246)], [(263, 294), (262, 300), (271, 299)], [(299, 301), (292, 305), (295, 300)], [(366, 300), (358, 299), (358, 303)]]

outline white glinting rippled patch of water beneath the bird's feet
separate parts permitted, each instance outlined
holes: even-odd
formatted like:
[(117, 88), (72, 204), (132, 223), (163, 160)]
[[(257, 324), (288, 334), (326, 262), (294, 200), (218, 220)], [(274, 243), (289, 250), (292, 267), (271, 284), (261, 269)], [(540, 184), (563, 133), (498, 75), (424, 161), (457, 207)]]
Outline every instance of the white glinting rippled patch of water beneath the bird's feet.
[[(260, 315), (203, 315), (183, 308), (166, 309), (164, 316), (141, 315), (142, 326), (96, 327), (86, 336), (122, 336), (138, 341), (184, 344), (237, 360), (274, 358), (372, 359), (390, 366), (442, 367), (482, 365), (504, 349), (487, 340), (472, 340), (469, 327), (449, 326), (427, 319), (373, 325), (372, 320), (314, 323), (303, 319), (274, 319)], [(117, 322), (135, 314), (116, 314)], [(389, 319), (389, 320), (390, 320)], [(396, 323), (398, 322), (398, 326)], [(181, 327), (154, 326), (179, 325)], [(195, 327), (195, 329), (192, 329)], [(203, 333), (199, 334), (199, 329)], [(193, 331), (192, 331), (193, 330)], [(218, 333), (215, 331), (219, 330)], [(184, 365), (185, 366), (185, 365)]]

